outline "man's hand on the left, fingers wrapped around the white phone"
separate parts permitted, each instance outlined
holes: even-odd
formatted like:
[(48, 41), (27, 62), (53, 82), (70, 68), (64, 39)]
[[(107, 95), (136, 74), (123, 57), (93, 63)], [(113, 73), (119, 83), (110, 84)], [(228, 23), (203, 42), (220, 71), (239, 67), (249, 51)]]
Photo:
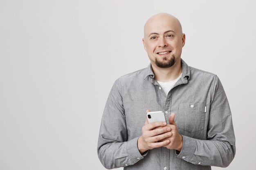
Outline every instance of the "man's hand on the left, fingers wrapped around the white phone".
[[(147, 110), (147, 112), (150, 112), (150, 110)], [(167, 146), (170, 143), (170, 140), (167, 139), (171, 136), (170, 131), (171, 128), (166, 125), (166, 122), (157, 121), (149, 124), (146, 119), (145, 126), (142, 127), (142, 135), (137, 143), (139, 152), (142, 154), (149, 149)]]

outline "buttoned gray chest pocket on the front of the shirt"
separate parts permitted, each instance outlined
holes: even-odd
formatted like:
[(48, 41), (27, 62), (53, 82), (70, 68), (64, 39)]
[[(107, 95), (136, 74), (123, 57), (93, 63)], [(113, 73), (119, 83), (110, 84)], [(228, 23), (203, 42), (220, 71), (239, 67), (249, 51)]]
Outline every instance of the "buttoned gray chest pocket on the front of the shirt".
[(181, 103), (178, 113), (178, 128), (187, 132), (196, 132), (204, 129), (205, 104), (203, 103)]

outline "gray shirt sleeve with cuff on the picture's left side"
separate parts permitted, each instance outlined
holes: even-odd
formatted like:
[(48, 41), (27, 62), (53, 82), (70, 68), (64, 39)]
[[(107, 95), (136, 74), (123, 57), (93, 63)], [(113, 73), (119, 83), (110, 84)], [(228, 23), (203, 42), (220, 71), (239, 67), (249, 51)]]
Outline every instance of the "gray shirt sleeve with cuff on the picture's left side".
[(107, 169), (135, 164), (147, 154), (140, 154), (137, 140), (127, 141), (125, 110), (121, 96), (120, 78), (113, 85), (101, 119), (98, 139), (98, 157)]

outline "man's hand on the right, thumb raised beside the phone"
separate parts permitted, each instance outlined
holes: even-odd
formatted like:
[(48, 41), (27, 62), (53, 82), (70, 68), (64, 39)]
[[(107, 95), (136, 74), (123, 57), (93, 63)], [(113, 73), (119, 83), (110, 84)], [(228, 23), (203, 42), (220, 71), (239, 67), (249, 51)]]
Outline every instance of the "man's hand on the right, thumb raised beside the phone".
[(170, 141), (170, 143), (168, 143), (164, 147), (168, 149), (175, 149), (175, 150), (181, 151), (183, 146), (183, 139), (182, 139), (182, 135), (180, 135), (180, 133), (177, 130), (177, 125), (174, 121), (174, 117), (175, 117), (175, 113), (171, 113), (171, 115), (169, 116), (169, 124), (166, 125), (167, 127), (171, 128), (171, 136), (163, 139), (162, 141), (166, 141), (166, 140)]

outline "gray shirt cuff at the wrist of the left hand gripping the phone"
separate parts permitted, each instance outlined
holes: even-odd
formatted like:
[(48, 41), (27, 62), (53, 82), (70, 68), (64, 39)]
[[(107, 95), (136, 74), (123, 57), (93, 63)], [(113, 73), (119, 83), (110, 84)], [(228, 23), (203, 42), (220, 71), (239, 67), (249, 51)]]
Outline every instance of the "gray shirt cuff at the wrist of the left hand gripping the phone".
[(129, 158), (131, 165), (133, 165), (137, 161), (143, 159), (148, 153), (148, 151), (146, 151), (142, 155), (140, 154), (138, 146), (137, 146), (138, 139), (139, 139), (139, 137), (136, 137), (136, 138), (128, 141), (128, 144), (126, 146), (126, 151), (128, 153), (128, 158)]

